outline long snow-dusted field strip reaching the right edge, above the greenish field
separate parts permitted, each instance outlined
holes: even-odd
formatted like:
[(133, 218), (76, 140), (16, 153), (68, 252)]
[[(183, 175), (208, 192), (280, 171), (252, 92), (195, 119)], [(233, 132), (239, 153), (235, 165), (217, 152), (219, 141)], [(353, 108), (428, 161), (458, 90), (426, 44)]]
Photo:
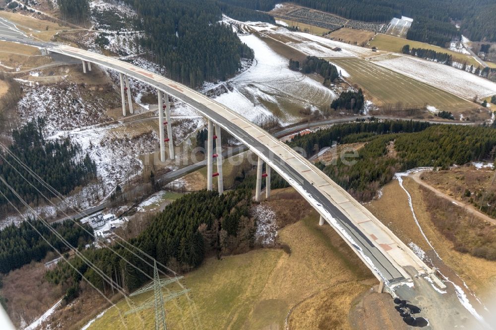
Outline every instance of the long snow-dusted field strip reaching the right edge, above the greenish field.
[(379, 58), (374, 63), (407, 75), (462, 98), (486, 98), (496, 94), (496, 83), (462, 70), (413, 56)]

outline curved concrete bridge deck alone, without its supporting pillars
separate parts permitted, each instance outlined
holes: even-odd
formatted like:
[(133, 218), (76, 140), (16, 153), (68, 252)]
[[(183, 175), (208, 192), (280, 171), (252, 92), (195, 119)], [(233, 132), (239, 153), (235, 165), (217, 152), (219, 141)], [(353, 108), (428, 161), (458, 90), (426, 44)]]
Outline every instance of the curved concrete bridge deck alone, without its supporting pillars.
[(432, 274), (408, 246), (344, 189), (285, 143), (238, 113), (180, 83), (119, 59), (69, 46), (53, 46), (47, 50), (108, 67), (153, 86), (228, 131), (287, 180), (386, 286), (410, 282), (415, 275)]

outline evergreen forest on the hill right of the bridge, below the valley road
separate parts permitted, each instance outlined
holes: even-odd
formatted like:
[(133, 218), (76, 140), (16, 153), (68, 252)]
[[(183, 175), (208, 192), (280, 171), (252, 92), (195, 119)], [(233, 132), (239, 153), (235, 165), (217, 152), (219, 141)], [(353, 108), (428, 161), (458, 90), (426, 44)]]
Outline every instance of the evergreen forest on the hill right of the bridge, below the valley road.
[(341, 124), (315, 133), (296, 136), (291, 147), (302, 147), (309, 156), (319, 148), (367, 142), (358, 151), (355, 165), (319, 164), (324, 173), (355, 198), (369, 201), (395, 172), (420, 166), (463, 165), (490, 159), (496, 148), (494, 128), (430, 125), (412, 121)]

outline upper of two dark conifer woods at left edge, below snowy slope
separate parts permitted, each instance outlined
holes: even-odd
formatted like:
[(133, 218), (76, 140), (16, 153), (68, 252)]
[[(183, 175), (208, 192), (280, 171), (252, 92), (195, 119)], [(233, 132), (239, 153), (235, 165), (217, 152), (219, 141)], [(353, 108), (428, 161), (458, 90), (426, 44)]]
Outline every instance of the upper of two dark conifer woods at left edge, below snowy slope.
[[(89, 155), (83, 152), (81, 146), (72, 143), (68, 137), (46, 140), (43, 133), (44, 127), (44, 119), (40, 117), (28, 122), (22, 128), (14, 130), (12, 132), (13, 142), (9, 151), (63, 195), (94, 179), (96, 177), (96, 165)], [(34, 181), (31, 175), (18, 165), (6, 151), (0, 151), (0, 175), (14, 187), (27, 203), (37, 205), (44, 199), (7, 162), (14, 165), (15, 169), (24, 177), (30, 179), (31, 183), (42, 193), (50, 195), (47, 189)], [(12, 202), (20, 204), (2, 183), (0, 183), (0, 190)], [(5, 199), (0, 199), (0, 211), (6, 208), (6, 204)]]

